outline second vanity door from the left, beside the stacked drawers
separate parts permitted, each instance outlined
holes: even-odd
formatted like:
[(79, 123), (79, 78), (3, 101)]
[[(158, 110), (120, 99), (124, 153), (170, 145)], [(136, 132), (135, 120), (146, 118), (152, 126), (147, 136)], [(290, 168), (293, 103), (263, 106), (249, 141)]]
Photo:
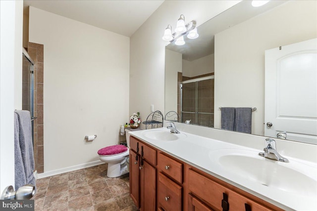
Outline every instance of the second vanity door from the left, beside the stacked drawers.
[(140, 161), (141, 210), (156, 210), (156, 168), (146, 161)]

